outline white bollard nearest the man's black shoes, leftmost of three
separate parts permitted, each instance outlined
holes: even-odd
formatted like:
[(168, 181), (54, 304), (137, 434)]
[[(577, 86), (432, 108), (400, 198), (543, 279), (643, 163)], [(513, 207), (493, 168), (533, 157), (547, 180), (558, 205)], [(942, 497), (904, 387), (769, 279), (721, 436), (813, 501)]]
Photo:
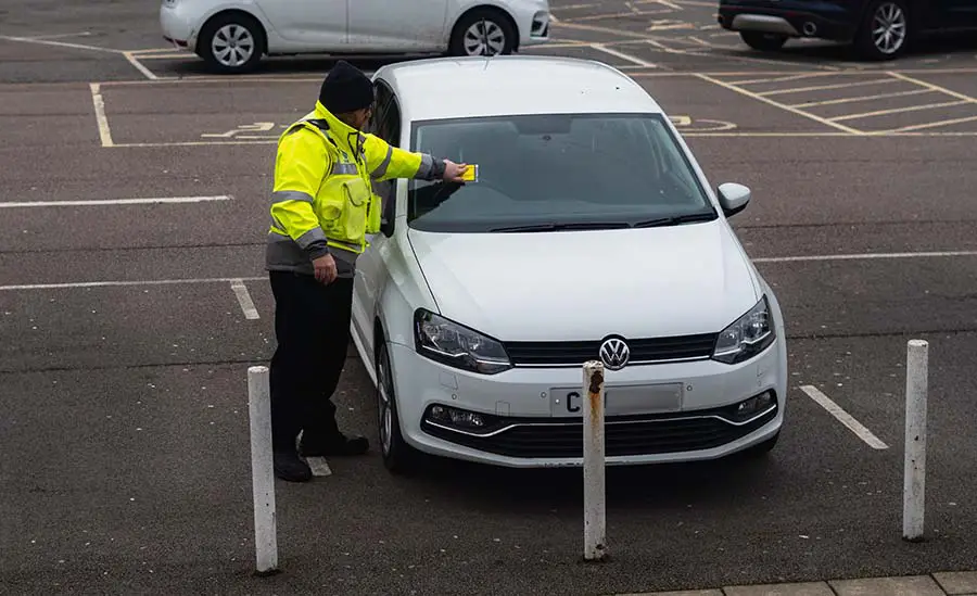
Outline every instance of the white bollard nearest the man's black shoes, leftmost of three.
[(251, 477), (254, 493), (254, 549), (259, 575), (278, 571), (275, 467), (271, 449), (271, 389), (268, 368), (248, 369), (251, 416)]

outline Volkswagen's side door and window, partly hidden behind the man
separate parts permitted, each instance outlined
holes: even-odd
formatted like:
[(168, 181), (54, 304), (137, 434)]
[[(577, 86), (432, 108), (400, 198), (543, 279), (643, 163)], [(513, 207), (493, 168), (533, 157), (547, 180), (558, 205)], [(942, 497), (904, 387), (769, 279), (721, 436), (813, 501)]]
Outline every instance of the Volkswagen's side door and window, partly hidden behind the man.
[[(397, 145), (401, 135), (401, 114), (391, 88), (378, 80), (377, 110), (368, 131), (392, 145)], [(373, 182), (373, 193), (380, 198), (383, 220), (390, 221), (396, 212), (396, 180)], [(353, 333), (359, 337), (367, 350), (373, 348), (373, 316), (377, 301), (389, 277), (384, 255), (390, 251), (385, 234), (377, 233), (367, 238), (370, 246), (356, 259), (356, 277), (353, 284)]]

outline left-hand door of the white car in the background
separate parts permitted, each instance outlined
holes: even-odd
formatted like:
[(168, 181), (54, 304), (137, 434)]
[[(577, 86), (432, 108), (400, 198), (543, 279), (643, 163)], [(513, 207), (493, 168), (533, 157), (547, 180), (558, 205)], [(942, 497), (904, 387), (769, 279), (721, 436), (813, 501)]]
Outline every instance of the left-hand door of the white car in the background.
[(345, 49), (348, 0), (256, 0), (256, 2), (289, 48), (306, 51)]

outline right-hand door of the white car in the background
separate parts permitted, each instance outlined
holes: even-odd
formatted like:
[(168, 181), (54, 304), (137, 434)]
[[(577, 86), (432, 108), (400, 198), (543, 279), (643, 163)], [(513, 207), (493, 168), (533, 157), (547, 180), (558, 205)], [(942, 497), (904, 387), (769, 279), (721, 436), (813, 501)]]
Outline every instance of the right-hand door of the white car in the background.
[(446, 48), (447, 8), (448, 0), (350, 0), (350, 49), (409, 52)]

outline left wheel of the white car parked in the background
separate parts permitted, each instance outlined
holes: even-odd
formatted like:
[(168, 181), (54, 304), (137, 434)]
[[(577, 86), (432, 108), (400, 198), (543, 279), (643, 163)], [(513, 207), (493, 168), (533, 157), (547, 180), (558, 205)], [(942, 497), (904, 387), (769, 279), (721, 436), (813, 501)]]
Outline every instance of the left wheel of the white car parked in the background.
[(215, 72), (251, 72), (265, 52), (265, 29), (251, 15), (218, 14), (203, 26), (196, 54)]

